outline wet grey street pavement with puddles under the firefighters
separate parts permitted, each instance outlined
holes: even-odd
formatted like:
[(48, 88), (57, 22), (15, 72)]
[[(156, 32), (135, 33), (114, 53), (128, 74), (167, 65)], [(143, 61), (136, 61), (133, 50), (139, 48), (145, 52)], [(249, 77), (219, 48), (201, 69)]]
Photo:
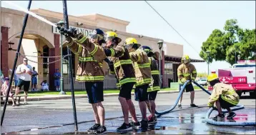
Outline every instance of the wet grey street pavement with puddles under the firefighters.
[[(174, 109), (171, 113), (159, 116), (157, 124), (146, 130), (131, 130), (117, 132), (116, 129), (123, 123), (121, 106), (117, 97), (104, 98), (106, 109), (107, 134), (255, 134), (255, 126), (230, 127), (213, 126), (205, 122), (208, 95), (202, 91), (196, 92), (195, 104), (199, 108), (190, 108), (189, 94), (184, 94), (182, 109)], [(177, 94), (157, 95), (157, 110), (168, 109), (174, 104)], [(27, 105), (7, 106), (1, 134), (87, 134), (87, 129), (94, 124), (91, 106), (87, 99), (76, 99), (78, 131), (74, 132), (74, 117), (72, 100), (60, 99), (49, 101), (30, 101)], [(240, 104), (245, 109), (235, 111), (232, 122), (255, 121), (255, 99), (244, 98)], [(139, 106), (134, 105), (140, 119)], [(210, 118), (217, 111), (213, 111)], [(229, 121), (229, 120), (225, 120)]]

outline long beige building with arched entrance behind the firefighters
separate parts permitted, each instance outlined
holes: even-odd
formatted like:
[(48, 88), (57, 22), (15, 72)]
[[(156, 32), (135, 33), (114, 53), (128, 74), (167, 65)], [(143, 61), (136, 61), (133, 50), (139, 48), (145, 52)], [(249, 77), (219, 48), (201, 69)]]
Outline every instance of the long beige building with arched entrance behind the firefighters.
[[(45, 19), (57, 23), (63, 19), (63, 14), (59, 12), (49, 11), (45, 9), (32, 9), (32, 12), (44, 17)], [(19, 36), (23, 26), (25, 13), (14, 9), (1, 7), (1, 71), (4, 76), (9, 76), (9, 69), (12, 69), (14, 58), (16, 55), (17, 45), (19, 44)], [(69, 26), (75, 27), (79, 31), (88, 35), (92, 29), (102, 29), (103, 31), (116, 30), (119, 37), (124, 41), (128, 37), (134, 37), (142, 45), (152, 47), (153, 51), (159, 51), (157, 41), (159, 39), (149, 36), (127, 33), (127, 25), (129, 21), (114, 19), (101, 14), (91, 14), (84, 16), (69, 15)], [(62, 38), (64, 40), (64, 37)], [(122, 43), (123, 43), (122, 41)], [(121, 43), (121, 44), (122, 44)], [(54, 85), (53, 74), (55, 69), (60, 68), (59, 58), (46, 59), (36, 56), (60, 56), (61, 36), (58, 29), (54, 26), (40, 21), (39, 19), (29, 16), (24, 33), (24, 39), (21, 42), (21, 54), (28, 55), (29, 64), (36, 68), (39, 73), (39, 83), (46, 79), (49, 81), (50, 89)], [(63, 49), (63, 54), (67, 54), (67, 49)], [(179, 66), (183, 55), (183, 46), (181, 44), (173, 44), (164, 42), (162, 49), (162, 76), (163, 86), (169, 86), (169, 81), (177, 81), (177, 66)], [(19, 56), (17, 64), (22, 63), (22, 56)], [(57, 61), (54, 64), (40, 64), (45, 62)], [(74, 74), (77, 71), (78, 56), (72, 55)], [(202, 60), (192, 59), (193, 62), (204, 62)], [(69, 89), (68, 79), (68, 61), (64, 61), (64, 87)], [(164, 65), (164, 66), (163, 66)], [(113, 75), (108, 74), (107, 64), (104, 63), (106, 79), (104, 81), (105, 88), (115, 88), (116, 80)], [(74, 75), (73, 75), (74, 76)], [(81, 89), (81, 85), (75, 82), (75, 89)], [(107, 87), (106, 87), (107, 86)]]

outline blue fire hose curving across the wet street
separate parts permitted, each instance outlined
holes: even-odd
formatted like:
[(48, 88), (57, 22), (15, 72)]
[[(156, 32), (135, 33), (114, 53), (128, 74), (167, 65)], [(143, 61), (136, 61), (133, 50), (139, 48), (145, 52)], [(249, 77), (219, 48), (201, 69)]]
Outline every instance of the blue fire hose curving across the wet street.
[[(169, 109), (166, 109), (164, 111), (156, 111), (156, 114), (158, 115), (163, 115), (163, 114), (168, 114), (169, 112), (171, 112), (178, 104), (180, 97), (182, 96), (182, 92), (185, 89), (185, 86), (187, 85), (187, 83), (189, 83), (189, 81), (186, 81), (183, 86), (181, 91), (179, 91), (179, 95), (178, 98), (176, 99), (174, 106), (170, 107)], [(200, 86), (200, 84), (197, 84), (197, 82), (193, 81), (194, 84), (196, 84), (197, 86), (200, 87), (200, 89), (202, 89), (203, 91), (205, 91), (207, 94), (211, 95), (211, 93), (209, 91), (207, 91), (204, 87)], [(232, 111), (236, 111), (236, 110), (240, 110), (240, 109), (245, 109), (245, 106), (243, 105), (237, 105), (235, 107), (232, 107)], [(214, 110), (213, 107), (211, 107), (208, 111), (207, 114), (205, 116), (206, 118), (206, 122), (207, 124), (212, 124), (212, 125), (216, 125), (216, 126), (256, 126), (256, 122), (252, 121), (252, 122), (228, 122), (228, 121), (214, 121), (213, 119), (209, 119), (210, 114), (212, 113), (212, 111)], [(227, 113), (228, 111), (224, 111), (222, 110), (223, 113)]]

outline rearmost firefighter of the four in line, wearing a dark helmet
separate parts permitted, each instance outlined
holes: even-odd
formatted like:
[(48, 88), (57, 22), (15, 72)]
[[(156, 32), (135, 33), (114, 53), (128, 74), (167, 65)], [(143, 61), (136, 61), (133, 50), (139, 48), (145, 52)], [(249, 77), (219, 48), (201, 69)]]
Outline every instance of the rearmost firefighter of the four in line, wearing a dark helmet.
[(151, 115), (147, 118), (149, 121), (149, 124), (157, 123), (157, 117), (154, 115), (156, 111), (156, 104), (154, 103), (154, 100), (157, 97), (157, 91), (160, 90), (159, 86), (159, 66), (157, 64), (157, 61), (159, 59), (159, 53), (158, 52), (152, 52), (152, 49), (149, 46), (142, 46), (143, 51), (147, 53), (147, 56), (149, 57), (149, 64), (151, 69), (151, 75), (152, 75), (152, 83), (149, 84), (149, 88), (147, 89), (147, 96), (149, 101), (146, 101), (147, 108), (149, 109)]

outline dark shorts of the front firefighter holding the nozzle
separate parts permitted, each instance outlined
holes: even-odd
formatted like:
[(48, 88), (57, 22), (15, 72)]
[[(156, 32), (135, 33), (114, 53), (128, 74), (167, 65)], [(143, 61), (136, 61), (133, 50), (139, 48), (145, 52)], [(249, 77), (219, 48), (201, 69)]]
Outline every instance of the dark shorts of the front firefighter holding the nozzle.
[(104, 101), (103, 81), (85, 82), (85, 89), (87, 90), (89, 104), (96, 104)]

